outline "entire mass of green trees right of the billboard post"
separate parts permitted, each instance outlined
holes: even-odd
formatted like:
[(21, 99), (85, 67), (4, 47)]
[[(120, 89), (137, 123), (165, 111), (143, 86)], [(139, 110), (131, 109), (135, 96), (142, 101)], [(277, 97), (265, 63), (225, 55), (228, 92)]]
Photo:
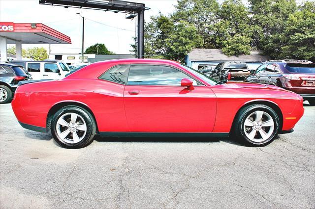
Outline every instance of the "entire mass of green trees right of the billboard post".
[(261, 50), (272, 58), (315, 61), (314, 1), (177, 1), (173, 13), (145, 24), (146, 57), (183, 61), (193, 48), (219, 48), (227, 55)]

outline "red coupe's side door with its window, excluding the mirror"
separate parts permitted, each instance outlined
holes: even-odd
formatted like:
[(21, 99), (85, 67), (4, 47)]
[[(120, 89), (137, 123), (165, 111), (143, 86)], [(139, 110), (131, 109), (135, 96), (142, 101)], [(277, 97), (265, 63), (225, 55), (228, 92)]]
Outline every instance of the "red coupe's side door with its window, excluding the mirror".
[[(193, 80), (194, 89), (181, 86), (182, 78)], [(216, 100), (209, 87), (179, 69), (130, 66), (124, 103), (132, 132), (211, 132)]]

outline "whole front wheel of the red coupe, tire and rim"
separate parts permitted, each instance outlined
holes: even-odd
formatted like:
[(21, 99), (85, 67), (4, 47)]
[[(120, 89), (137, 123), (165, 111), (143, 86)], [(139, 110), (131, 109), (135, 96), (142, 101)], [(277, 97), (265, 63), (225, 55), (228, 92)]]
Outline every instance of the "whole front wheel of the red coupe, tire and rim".
[(241, 109), (235, 123), (235, 134), (249, 146), (271, 143), (279, 131), (279, 116), (267, 105), (252, 104)]

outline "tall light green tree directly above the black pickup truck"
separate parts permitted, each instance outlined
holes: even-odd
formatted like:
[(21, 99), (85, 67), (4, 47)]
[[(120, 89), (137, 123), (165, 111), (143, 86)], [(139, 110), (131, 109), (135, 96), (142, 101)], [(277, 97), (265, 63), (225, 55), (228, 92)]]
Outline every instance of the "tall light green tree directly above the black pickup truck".
[(215, 25), (216, 45), (227, 55), (249, 54), (252, 49), (250, 13), (241, 0), (225, 0)]

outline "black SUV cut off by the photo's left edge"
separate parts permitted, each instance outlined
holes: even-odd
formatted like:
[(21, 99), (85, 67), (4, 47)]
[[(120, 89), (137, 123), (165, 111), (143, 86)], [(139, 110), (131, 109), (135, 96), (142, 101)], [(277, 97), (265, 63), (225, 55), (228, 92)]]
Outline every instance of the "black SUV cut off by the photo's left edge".
[(31, 75), (21, 65), (0, 63), (0, 104), (12, 100), (18, 83), (32, 79)]

